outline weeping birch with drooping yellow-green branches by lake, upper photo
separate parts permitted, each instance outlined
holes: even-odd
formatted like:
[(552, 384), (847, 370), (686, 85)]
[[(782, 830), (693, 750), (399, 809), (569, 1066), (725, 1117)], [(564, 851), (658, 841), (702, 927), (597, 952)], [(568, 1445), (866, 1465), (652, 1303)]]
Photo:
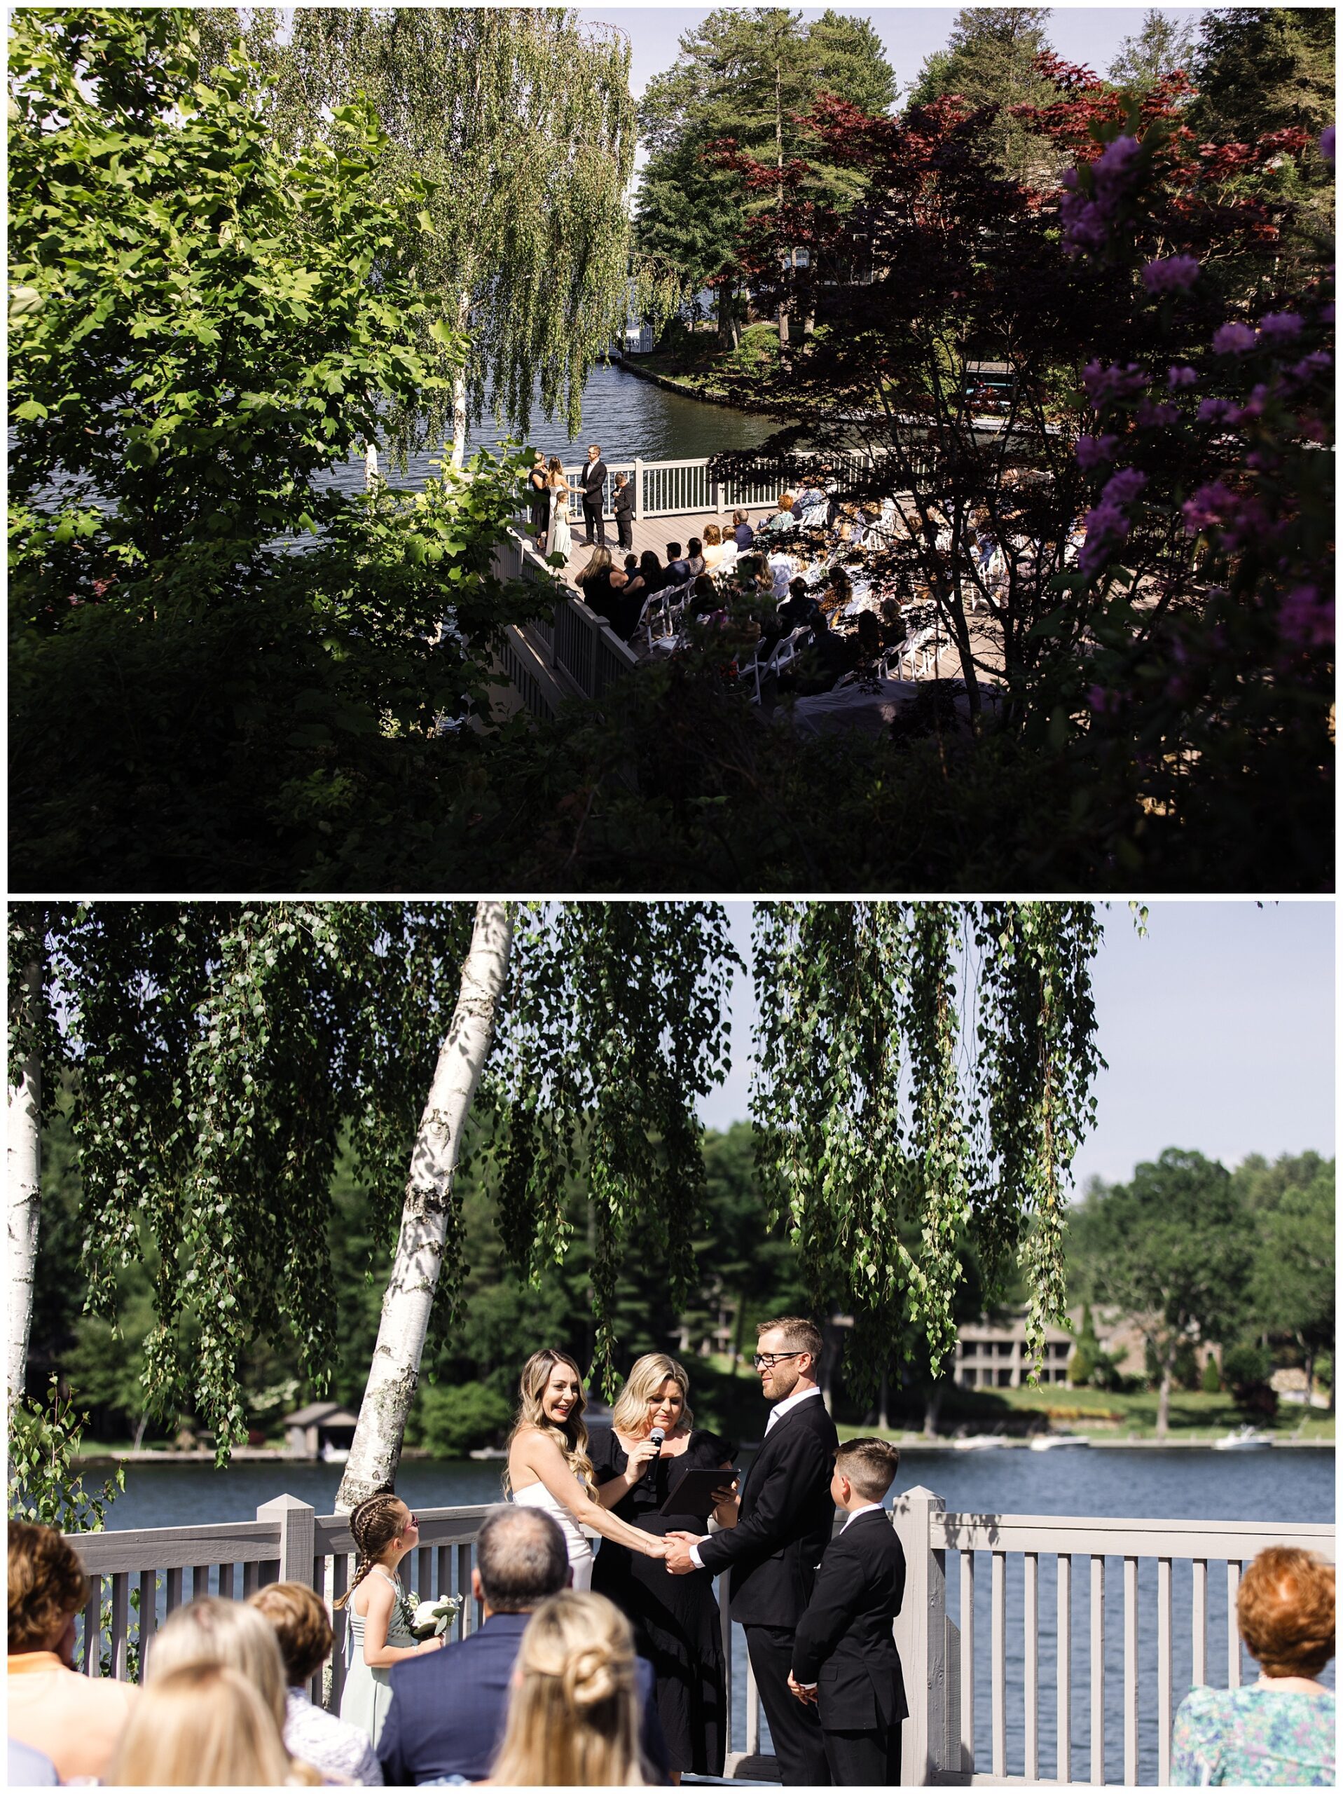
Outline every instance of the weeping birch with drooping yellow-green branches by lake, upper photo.
[(247, 45), (276, 68), (282, 129), (321, 133), (362, 91), (391, 138), (386, 179), (414, 169), (430, 183), (400, 249), (472, 352), (420, 425), (430, 440), (450, 425), (459, 466), (490, 405), (525, 434), (540, 395), (576, 436), (583, 386), (629, 309), (624, 34), (568, 7), (298, 7), (289, 41), (278, 18), (251, 14)]

